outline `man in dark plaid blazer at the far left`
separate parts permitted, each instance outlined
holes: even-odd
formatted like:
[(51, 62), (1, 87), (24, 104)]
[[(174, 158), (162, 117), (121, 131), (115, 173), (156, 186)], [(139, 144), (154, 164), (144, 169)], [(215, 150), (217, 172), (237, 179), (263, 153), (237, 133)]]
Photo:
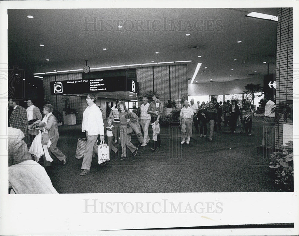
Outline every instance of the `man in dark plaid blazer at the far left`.
[(20, 129), (23, 131), (24, 135), (26, 135), (28, 130), (28, 119), (25, 108), (17, 105), (16, 101), (12, 98), (9, 99), (8, 106), (13, 108), (13, 112), (9, 119), (10, 127)]

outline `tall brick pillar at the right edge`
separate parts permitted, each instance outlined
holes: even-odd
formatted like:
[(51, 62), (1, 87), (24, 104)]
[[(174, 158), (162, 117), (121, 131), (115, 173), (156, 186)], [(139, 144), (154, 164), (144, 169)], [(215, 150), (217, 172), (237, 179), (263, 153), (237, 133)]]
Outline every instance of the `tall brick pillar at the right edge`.
[[(293, 99), (293, 10), (278, 9), (276, 49), (276, 103)], [(287, 123), (292, 124), (290, 120)], [(275, 133), (275, 146), (282, 145), (283, 122), (279, 122)]]

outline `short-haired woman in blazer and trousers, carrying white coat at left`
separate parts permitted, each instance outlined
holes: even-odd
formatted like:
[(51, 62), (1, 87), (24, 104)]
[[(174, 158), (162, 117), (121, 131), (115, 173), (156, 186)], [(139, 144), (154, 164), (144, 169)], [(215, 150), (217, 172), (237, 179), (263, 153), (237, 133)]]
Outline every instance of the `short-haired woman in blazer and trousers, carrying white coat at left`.
[(66, 163), (65, 155), (57, 148), (57, 142), (59, 139), (58, 127), (57, 127), (57, 119), (52, 114), (54, 110), (53, 105), (45, 104), (42, 112), (44, 113), (44, 118), (42, 122), (39, 123), (39, 127), (42, 128), (42, 131), (48, 132), (49, 142), (51, 143), (49, 150), (51, 153), (57, 157), (58, 160), (61, 161), (62, 165)]

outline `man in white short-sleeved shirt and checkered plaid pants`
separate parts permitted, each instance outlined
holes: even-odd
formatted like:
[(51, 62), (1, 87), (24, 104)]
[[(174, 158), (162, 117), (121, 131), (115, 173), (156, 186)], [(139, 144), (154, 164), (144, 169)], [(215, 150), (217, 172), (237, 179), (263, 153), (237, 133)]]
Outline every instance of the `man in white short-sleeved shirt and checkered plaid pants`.
[(191, 135), (191, 129), (192, 129), (192, 122), (193, 122), (193, 110), (189, 107), (188, 100), (184, 101), (184, 107), (181, 109), (180, 113), (180, 125), (181, 125), (181, 131), (182, 131), (182, 138), (181, 144), (186, 142), (186, 136), (187, 136), (187, 144), (190, 142), (190, 135)]

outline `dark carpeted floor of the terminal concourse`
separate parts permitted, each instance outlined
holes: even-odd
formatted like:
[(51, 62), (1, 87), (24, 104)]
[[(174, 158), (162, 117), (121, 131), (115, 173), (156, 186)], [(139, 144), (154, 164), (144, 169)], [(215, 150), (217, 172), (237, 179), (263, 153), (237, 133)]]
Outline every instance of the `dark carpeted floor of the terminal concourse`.
[[(106, 127), (106, 126), (105, 126)], [(151, 137), (151, 128), (149, 128)], [(254, 121), (252, 135), (230, 134), (228, 127), (216, 131), (213, 142), (200, 138), (193, 127), (190, 144), (181, 145), (179, 127), (162, 127), (158, 151), (139, 147), (132, 157), (99, 166), (97, 156), (91, 172), (80, 176), (82, 160), (75, 156), (77, 139), (83, 137), (81, 125), (60, 126), (58, 147), (67, 156), (66, 165), (57, 158), (46, 168), (59, 193), (134, 193), (134, 192), (274, 192), (280, 190), (270, 179), (269, 161), (263, 158), (263, 123)], [(133, 136), (132, 142), (138, 141)]]

